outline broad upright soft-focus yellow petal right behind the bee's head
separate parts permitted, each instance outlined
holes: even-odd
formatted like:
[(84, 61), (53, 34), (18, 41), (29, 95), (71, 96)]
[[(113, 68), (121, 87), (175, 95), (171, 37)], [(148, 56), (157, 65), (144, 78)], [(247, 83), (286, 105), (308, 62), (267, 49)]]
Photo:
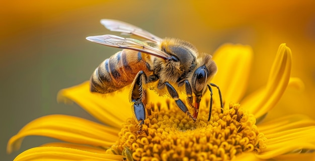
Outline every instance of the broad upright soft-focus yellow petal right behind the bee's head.
[(218, 72), (212, 83), (218, 85), (223, 99), (228, 105), (230, 101), (239, 102), (243, 97), (250, 74), (253, 50), (250, 46), (222, 45), (213, 55)]

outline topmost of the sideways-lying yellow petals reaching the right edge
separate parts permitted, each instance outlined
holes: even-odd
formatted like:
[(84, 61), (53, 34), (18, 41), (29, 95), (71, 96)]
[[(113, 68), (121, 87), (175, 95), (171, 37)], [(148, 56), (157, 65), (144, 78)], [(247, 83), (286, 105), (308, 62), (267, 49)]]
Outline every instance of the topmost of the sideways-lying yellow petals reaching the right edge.
[[(264, 122), (257, 125), (260, 132), (265, 135), (274, 134), (276, 132), (281, 132), (284, 130), (315, 126), (315, 120), (310, 119), (305, 115), (289, 115), (278, 119), (271, 120), (269, 122)], [(271, 136), (270, 136), (271, 137)]]

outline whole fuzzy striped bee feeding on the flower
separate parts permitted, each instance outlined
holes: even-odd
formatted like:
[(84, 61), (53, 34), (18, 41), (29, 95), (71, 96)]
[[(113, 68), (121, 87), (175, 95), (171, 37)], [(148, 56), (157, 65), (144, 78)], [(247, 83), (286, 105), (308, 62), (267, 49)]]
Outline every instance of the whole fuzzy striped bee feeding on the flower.
[[(161, 39), (141, 28), (131, 24), (103, 19), (101, 24), (110, 31), (135, 35), (146, 42), (115, 35), (89, 36), (86, 39), (101, 45), (121, 48), (110, 58), (103, 61), (94, 71), (90, 79), (91, 92), (111, 93), (131, 84), (129, 99), (135, 118), (143, 124), (145, 119), (144, 84), (156, 82), (153, 89), (167, 89), (177, 106), (193, 121), (196, 121), (202, 95), (210, 91), (209, 117), (212, 109), (212, 89), (219, 91), (221, 110), (222, 96), (217, 85), (210, 83), (217, 72), (217, 66), (212, 56), (198, 53), (190, 43), (174, 39)], [(175, 87), (174, 87), (175, 86)], [(187, 104), (194, 109), (191, 114), (179, 98), (176, 89), (182, 89), (187, 94)]]

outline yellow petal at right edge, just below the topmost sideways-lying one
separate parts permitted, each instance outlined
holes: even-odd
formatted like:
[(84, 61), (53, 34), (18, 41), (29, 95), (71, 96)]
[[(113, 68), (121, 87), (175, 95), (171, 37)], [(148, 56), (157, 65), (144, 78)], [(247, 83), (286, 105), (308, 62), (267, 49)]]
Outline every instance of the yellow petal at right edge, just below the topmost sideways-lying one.
[(258, 155), (270, 159), (297, 149), (315, 149), (315, 126), (295, 128), (269, 135), (267, 148)]

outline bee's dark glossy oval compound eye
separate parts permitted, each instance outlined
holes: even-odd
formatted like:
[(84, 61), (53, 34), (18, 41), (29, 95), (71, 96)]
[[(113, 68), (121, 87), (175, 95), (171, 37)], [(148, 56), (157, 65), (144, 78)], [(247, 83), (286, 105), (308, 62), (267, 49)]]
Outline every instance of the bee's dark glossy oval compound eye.
[(205, 87), (206, 85), (206, 80), (207, 80), (207, 73), (205, 70), (205, 67), (199, 67), (194, 75), (195, 77), (195, 90), (196, 90), (196, 94), (201, 94), (202, 89)]

